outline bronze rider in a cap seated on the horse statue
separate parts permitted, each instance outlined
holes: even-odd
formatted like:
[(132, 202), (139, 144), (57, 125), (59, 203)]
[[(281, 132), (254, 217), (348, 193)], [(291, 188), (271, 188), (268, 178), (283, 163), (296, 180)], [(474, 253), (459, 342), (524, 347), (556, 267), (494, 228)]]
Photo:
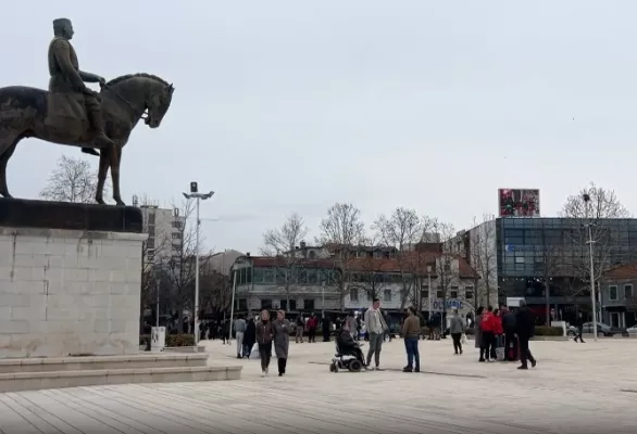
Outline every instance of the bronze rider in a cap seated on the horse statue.
[[(68, 18), (53, 21), (54, 37), (49, 44), (49, 91), (60, 93), (82, 93), (88, 118), (96, 131), (93, 144), (96, 148), (105, 149), (113, 144), (104, 132), (104, 120), (100, 97), (97, 92), (86, 87), (85, 82), (99, 82), (104, 85), (105, 80), (99, 75), (86, 73), (79, 69), (77, 54), (71, 44), (75, 34), (73, 23)], [(91, 148), (83, 148), (82, 152), (98, 155)]]

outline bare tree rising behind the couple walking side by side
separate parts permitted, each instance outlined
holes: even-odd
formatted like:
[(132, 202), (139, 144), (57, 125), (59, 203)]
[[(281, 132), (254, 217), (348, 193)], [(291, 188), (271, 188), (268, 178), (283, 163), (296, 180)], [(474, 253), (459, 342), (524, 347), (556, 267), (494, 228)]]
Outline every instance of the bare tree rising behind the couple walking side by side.
[(276, 257), (276, 283), (286, 294), (286, 309), (290, 308), (290, 296), (299, 282), (299, 271), (303, 257), (297, 253), (297, 247), (308, 235), (308, 227), (303, 218), (293, 213), (287, 217), (280, 228), (268, 230), (263, 234), (264, 256)]

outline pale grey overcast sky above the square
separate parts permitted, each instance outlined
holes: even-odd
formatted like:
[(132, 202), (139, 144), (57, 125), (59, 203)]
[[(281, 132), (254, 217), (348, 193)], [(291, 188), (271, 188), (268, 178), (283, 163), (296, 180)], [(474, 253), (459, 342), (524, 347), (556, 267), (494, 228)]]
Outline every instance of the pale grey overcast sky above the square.
[[(214, 190), (216, 251), (257, 252), (292, 212), (315, 228), (337, 201), (462, 229), (498, 188), (539, 188), (552, 216), (592, 180), (637, 209), (630, 0), (23, 0), (2, 16), (0, 86), (47, 87), (60, 16), (83, 69), (174, 84), (162, 127), (124, 150), (123, 196)], [(37, 197), (62, 154), (80, 152), (23, 141), (12, 193)]]

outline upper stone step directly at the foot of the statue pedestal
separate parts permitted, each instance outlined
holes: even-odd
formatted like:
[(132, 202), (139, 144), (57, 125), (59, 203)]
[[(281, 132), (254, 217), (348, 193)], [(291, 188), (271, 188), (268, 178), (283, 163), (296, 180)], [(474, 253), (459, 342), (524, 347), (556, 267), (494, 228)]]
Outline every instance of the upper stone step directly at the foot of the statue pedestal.
[(101, 369), (205, 367), (208, 356), (208, 353), (146, 353), (129, 356), (0, 359), (0, 374), (17, 372), (95, 371)]

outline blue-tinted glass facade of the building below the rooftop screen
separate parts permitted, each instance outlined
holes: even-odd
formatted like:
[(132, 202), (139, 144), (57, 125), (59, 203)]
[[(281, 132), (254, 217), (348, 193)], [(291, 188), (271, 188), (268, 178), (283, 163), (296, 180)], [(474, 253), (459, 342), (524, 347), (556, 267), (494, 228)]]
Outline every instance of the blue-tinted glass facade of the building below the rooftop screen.
[[(597, 219), (590, 227), (595, 271), (637, 260), (637, 219)], [(500, 298), (526, 297), (529, 304), (590, 304), (588, 221), (573, 218), (496, 220)], [(588, 297), (588, 299), (586, 298)]]

